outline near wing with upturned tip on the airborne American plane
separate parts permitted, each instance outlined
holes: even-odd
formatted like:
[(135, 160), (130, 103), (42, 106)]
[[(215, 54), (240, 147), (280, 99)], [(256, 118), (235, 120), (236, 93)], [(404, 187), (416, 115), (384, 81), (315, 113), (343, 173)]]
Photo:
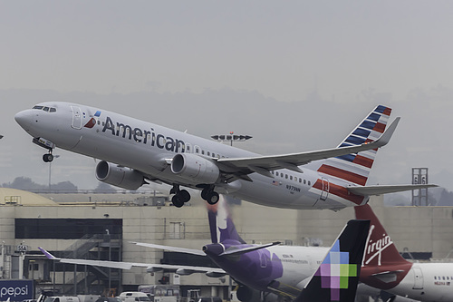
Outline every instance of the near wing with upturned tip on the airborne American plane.
[[(301, 170), (297, 166), (307, 164), (311, 161), (318, 161), (346, 154), (358, 153), (360, 151), (367, 151), (385, 146), (390, 141), (393, 132), (395, 132), (398, 122), (400, 122), (400, 117), (396, 118), (395, 121), (390, 124), (388, 129), (382, 133), (381, 137), (378, 140), (365, 142), (361, 145), (284, 155), (269, 155), (230, 159), (226, 158), (218, 159), (217, 162), (221, 165), (225, 165), (227, 168), (230, 168), (230, 170), (237, 170), (244, 174), (256, 172), (265, 176), (272, 177), (272, 174), (270, 174), (269, 170), (289, 169), (300, 172)], [(223, 169), (221, 168), (221, 170)]]

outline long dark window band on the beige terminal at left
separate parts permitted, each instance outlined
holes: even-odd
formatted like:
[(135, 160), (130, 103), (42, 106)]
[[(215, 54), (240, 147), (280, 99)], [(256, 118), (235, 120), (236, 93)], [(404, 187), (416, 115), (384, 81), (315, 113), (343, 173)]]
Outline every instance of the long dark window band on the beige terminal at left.
[(16, 239), (81, 239), (107, 230), (121, 235), (122, 219), (14, 219)]

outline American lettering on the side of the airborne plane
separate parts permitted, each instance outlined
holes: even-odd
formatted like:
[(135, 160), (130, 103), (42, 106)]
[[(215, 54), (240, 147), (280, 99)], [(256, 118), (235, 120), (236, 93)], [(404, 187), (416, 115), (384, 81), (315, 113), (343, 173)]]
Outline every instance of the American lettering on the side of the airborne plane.
[(156, 133), (152, 128), (149, 130), (132, 128), (130, 125), (120, 122), (117, 122), (115, 125), (109, 116), (105, 120), (102, 132), (111, 132), (112, 135), (121, 136), (130, 141), (133, 140), (143, 144), (149, 143), (153, 147), (156, 146), (159, 149), (165, 149), (167, 151), (177, 153), (186, 151), (186, 144), (184, 141)]

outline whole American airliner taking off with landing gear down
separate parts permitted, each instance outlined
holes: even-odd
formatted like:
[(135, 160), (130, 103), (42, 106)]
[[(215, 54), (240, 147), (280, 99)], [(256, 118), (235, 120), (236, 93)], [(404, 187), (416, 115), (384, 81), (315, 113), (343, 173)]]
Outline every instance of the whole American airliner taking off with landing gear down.
[(128, 190), (147, 180), (167, 183), (176, 207), (190, 200), (182, 186), (201, 190), (210, 204), (224, 193), (278, 208), (342, 209), (419, 188), (366, 186), (377, 149), (400, 120), (384, 132), (390, 112), (377, 106), (337, 148), (272, 156), (77, 103), (42, 102), (15, 121), (48, 150), (43, 161), (53, 160), (55, 147), (99, 159), (98, 180)]

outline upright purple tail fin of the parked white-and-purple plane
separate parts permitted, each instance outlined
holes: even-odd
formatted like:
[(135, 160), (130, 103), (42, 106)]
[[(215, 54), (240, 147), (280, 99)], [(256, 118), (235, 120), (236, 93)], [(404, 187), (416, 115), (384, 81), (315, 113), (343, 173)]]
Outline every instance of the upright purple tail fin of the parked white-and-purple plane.
[(233, 223), (233, 219), (231, 219), (227, 204), (228, 198), (221, 194), (216, 204), (207, 204), (207, 218), (209, 219), (211, 241), (212, 243), (221, 243), (231, 239), (245, 244), (246, 241), (237, 234), (235, 224)]

